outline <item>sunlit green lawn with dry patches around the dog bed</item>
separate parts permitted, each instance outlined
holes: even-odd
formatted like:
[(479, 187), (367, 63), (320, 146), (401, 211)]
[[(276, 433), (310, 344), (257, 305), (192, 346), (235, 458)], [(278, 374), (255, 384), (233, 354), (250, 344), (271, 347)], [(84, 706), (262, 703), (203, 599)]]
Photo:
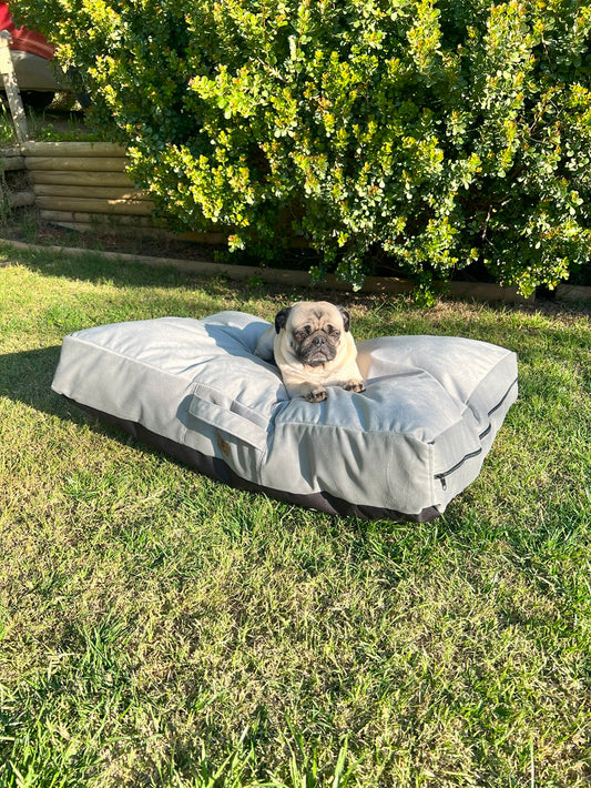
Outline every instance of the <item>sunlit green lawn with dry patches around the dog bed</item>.
[(520, 365), (445, 516), (366, 523), (211, 482), (50, 390), (77, 329), (303, 293), (2, 260), (0, 786), (591, 784), (589, 310), (338, 296), (357, 339)]

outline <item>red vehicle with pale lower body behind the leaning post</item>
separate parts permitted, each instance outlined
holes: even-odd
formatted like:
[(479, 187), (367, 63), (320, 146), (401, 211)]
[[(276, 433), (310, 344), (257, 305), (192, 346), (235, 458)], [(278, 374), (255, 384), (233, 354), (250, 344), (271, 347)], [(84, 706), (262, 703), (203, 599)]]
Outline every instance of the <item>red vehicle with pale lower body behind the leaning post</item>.
[(0, 2), (0, 30), (8, 30), (12, 37), (12, 62), (23, 102), (37, 109), (47, 107), (60, 90), (51, 63), (53, 44), (41, 33), (17, 28), (6, 2)]

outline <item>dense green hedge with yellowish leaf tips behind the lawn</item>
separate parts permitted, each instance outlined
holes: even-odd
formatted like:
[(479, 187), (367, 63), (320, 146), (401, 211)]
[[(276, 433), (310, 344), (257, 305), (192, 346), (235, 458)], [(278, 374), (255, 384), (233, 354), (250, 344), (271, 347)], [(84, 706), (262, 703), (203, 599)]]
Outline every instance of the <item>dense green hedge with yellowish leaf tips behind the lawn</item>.
[(357, 286), (479, 261), (524, 294), (588, 263), (579, 0), (14, 0), (179, 225)]

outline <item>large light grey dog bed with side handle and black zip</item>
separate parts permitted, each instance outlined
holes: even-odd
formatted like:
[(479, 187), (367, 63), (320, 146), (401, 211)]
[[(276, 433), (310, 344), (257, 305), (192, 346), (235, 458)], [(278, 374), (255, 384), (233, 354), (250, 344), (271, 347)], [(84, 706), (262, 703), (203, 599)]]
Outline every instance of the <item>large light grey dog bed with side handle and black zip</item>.
[(289, 400), (242, 312), (64, 337), (52, 387), (201, 473), (330, 514), (428, 521), (480, 472), (517, 397), (514, 353), (475, 340), (358, 343), (367, 390)]

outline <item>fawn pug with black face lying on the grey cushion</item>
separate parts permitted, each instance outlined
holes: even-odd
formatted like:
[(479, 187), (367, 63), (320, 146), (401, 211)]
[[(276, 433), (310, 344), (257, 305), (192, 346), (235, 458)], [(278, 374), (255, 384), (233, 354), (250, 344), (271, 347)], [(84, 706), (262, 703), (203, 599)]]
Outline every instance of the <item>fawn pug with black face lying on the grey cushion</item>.
[(255, 353), (275, 361), (292, 398), (326, 400), (326, 386), (365, 391), (357, 366), (350, 316), (328, 301), (298, 301), (275, 316), (275, 325), (258, 340)]

